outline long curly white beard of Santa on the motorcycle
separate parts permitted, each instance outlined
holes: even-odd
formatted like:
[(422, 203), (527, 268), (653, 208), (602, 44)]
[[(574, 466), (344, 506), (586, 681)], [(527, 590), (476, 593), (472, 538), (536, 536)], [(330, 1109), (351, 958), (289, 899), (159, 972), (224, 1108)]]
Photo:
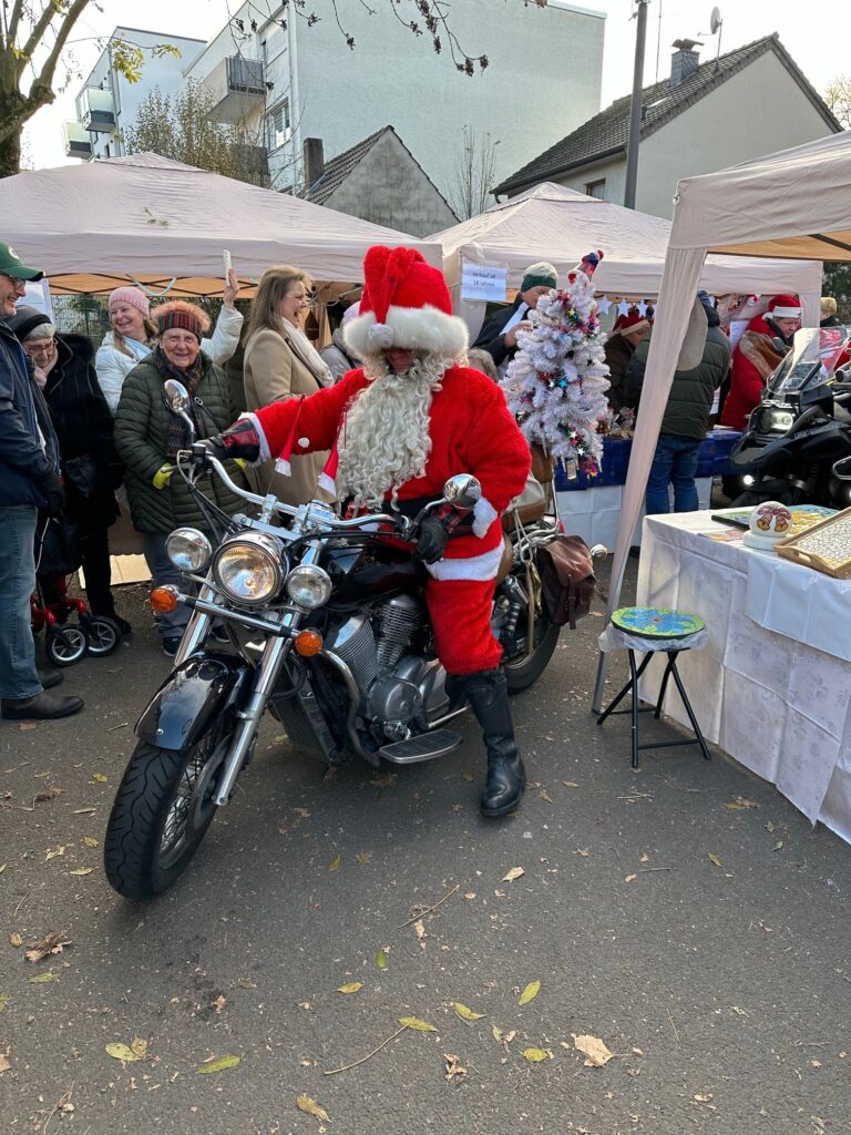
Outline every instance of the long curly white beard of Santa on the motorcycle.
[(372, 381), (346, 412), (339, 443), (339, 484), (360, 507), (381, 507), (388, 493), (422, 477), (431, 452), (429, 415), (447, 361), (414, 360), (404, 375), (388, 371), (384, 356), (369, 359)]

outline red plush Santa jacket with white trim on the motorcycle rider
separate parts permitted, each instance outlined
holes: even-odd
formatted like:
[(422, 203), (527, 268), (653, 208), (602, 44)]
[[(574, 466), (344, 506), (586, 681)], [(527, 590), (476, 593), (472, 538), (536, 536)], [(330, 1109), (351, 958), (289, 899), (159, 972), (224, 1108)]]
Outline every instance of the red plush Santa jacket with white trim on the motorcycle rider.
[[(251, 417), (269, 446), (269, 456), (281, 452), (293, 436), (294, 422), (294, 454), (330, 449), (347, 406), (368, 382), (362, 369), (349, 371), (336, 386), (306, 398), (273, 402), (255, 411)], [(399, 501), (438, 498), (455, 473), (472, 473), (482, 489), (473, 512), (473, 535), (454, 537), (445, 558), (429, 571), (436, 579), (492, 579), (503, 549), (499, 515), (523, 491), (531, 468), (525, 438), (502, 389), (467, 367), (445, 372), (431, 403), (429, 436), (426, 473), (399, 487)]]

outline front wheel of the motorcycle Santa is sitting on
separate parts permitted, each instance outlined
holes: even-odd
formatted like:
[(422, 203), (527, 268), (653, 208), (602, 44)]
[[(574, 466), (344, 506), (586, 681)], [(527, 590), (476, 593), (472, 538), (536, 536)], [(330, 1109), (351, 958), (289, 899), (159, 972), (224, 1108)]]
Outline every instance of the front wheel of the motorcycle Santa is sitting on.
[(140, 741), (116, 794), (103, 866), (127, 899), (151, 899), (180, 877), (216, 815), (212, 797), (234, 722), (175, 753)]

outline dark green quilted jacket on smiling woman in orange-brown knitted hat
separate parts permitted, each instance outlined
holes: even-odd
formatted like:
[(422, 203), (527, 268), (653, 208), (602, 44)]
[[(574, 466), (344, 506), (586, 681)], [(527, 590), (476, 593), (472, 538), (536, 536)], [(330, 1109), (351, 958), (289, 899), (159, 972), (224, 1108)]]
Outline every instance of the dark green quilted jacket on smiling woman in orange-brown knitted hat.
[[(196, 390), (202, 405), (196, 402), (194, 407), (199, 438), (213, 437), (236, 419), (227, 375), (205, 355), (202, 359), (204, 377)], [(116, 447), (126, 466), (125, 486), (133, 524), (140, 532), (159, 535), (184, 524), (209, 531), (209, 523), (178, 472), (171, 474), (165, 488), (158, 489), (153, 484), (160, 468), (169, 463), (169, 421), (170, 414), (162, 402), (162, 377), (145, 359), (125, 379), (116, 410)], [(227, 462), (226, 468), (231, 480), (247, 488), (238, 465)], [(229, 515), (251, 508), (216, 474), (196, 484), (205, 497)]]

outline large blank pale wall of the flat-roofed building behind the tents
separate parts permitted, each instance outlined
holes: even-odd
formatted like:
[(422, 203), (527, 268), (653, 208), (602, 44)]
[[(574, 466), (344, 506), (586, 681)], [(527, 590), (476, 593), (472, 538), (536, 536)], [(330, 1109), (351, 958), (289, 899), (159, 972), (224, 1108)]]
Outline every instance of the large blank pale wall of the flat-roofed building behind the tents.
[(470, 78), (389, 11), (345, 6), (351, 51), (334, 19), (297, 20), (301, 136), (334, 157), (391, 125), (444, 194), (449, 194), (464, 125), (499, 141), (496, 180), (531, 161), (597, 114), (605, 18), (587, 9), (524, 0), (464, 0), (449, 20), (462, 49), (489, 67)]

